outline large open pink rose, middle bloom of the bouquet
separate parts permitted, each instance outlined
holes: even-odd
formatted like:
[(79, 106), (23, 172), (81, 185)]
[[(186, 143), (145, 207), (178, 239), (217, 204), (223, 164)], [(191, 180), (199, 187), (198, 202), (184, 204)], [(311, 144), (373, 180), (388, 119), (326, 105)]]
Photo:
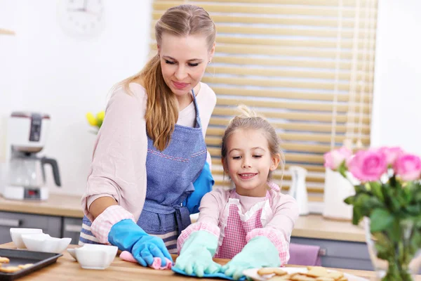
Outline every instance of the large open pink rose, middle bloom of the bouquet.
[(380, 150), (360, 150), (347, 164), (348, 171), (360, 181), (378, 181), (387, 171), (387, 158)]

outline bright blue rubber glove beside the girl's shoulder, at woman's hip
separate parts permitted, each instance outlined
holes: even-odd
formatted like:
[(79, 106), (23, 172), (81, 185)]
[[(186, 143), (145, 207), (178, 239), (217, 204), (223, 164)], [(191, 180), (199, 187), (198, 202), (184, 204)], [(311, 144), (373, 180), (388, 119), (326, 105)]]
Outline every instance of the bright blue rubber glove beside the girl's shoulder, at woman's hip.
[(209, 164), (205, 162), (199, 178), (196, 178), (193, 183), (194, 191), (182, 202), (182, 205), (189, 209), (190, 214), (199, 213), (200, 201), (206, 193), (212, 191), (214, 183)]

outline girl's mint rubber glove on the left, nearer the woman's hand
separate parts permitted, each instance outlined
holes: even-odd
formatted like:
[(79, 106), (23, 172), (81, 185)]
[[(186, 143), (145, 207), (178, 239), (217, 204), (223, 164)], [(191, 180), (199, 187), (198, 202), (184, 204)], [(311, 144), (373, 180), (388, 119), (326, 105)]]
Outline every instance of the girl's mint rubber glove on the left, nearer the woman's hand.
[(217, 247), (218, 237), (205, 230), (198, 230), (182, 245), (174, 267), (185, 271), (187, 275), (198, 277), (203, 277), (204, 273), (217, 273), (221, 266), (212, 259)]

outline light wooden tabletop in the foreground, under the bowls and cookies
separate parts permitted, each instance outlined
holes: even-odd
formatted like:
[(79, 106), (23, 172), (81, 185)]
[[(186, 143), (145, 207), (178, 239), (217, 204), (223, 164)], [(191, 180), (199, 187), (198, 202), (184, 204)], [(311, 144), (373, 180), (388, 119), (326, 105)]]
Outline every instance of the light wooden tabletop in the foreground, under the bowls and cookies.
[[(69, 245), (69, 248), (78, 247), (76, 245)], [(0, 248), (16, 249), (13, 242), (2, 244)], [(220, 264), (227, 263), (227, 259), (215, 259)], [(293, 265), (288, 265), (293, 266)], [(340, 269), (343, 273), (349, 273), (359, 277), (366, 278), (370, 281), (375, 281), (375, 273), (373, 271), (365, 270), (350, 270)], [(69, 279), (70, 278), (70, 279)], [(156, 280), (202, 280), (202, 278), (185, 277), (176, 275), (171, 270), (154, 270), (152, 268), (144, 268), (137, 263), (129, 263), (116, 257), (111, 266), (105, 270), (88, 270), (79, 266), (79, 263), (74, 261), (72, 256), (67, 251), (58, 259), (56, 263), (51, 266), (37, 270), (34, 273), (19, 278), (19, 280), (139, 280), (139, 281), (156, 281)], [(206, 280), (221, 280), (207, 278)], [(415, 281), (421, 281), (421, 275), (415, 277)]]

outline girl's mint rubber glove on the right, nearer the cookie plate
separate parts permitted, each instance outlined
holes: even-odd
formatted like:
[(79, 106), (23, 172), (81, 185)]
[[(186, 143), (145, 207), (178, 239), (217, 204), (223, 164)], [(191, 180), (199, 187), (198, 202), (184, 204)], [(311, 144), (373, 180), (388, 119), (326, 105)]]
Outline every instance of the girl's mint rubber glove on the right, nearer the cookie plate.
[(248, 268), (281, 266), (279, 252), (265, 236), (254, 237), (231, 261), (222, 266), (222, 272), (238, 280)]

